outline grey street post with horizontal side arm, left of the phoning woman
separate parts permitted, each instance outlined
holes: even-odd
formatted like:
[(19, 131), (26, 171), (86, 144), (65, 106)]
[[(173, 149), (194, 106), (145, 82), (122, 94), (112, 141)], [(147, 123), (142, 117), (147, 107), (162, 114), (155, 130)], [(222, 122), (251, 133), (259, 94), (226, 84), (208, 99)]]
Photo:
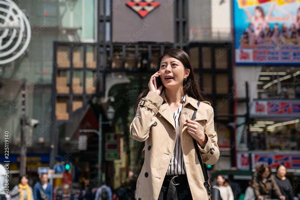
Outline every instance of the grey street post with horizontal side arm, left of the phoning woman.
[(98, 134), (98, 186), (101, 184), (102, 180), (102, 124), (111, 124), (111, 122), (102, 122), (102, 114), (99, 114), (99, 129), (98, 131), (95, 129), (80, 129), (80, 133), (94, 132)]

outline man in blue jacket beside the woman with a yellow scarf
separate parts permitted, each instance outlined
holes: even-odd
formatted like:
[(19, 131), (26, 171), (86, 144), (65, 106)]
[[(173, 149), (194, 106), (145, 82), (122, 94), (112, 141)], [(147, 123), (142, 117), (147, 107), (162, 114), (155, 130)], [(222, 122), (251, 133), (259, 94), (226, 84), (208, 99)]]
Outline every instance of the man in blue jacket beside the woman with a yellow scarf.
[(33, 186), (33, 196), (35, 200), (52, 200), (52, 186), (48, 182), (48, 174), (40, 174), (40, 182)]

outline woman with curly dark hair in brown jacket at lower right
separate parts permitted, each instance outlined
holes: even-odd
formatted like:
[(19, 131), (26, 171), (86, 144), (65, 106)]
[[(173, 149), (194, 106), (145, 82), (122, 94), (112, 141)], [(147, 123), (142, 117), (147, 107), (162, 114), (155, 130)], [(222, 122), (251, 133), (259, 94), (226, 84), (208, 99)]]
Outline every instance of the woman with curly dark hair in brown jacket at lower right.
[(280, 192), (271, 169), (266, 163), (257, 169), (257, 176), (253, 178), (253, 188), (258, 200), (270, 199), (270, 196), (285, 200), (285, 196)]

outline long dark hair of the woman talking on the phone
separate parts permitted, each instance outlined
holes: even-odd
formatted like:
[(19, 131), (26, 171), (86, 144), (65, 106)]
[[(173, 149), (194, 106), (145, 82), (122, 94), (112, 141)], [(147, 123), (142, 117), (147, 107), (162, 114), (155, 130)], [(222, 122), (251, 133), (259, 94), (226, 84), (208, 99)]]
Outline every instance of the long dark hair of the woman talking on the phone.
[[(168, 48), (158, 58), (156, 71), (159, 71), (160, 66), (161, 66), (161, 60), (165, 56), (170, 56), (170, 57), (176, 58), (177, 60), (182, 62), (183, 66), (184, 66), (184, 70), (190, 69), (190, 74), (188, 75), (187, 79), (183, 81), (183, 92), (187, 93), (190, 97), (193, 97), (196, 100), (204, 101), (204, 99), (203, 99), (204, 93), (200, 90), (198, 77), (195, 76), (192, 64), (190, 62), (190, 57), (187, 55), (187, 53), (178, 48), (174, 48), (174, 47)], [(163, 85), (163, 88), (161, 89), (161, 91), (163, 91), (164, 89), (165, 89), (165, 87)], [(134, 114), (136, 113), (136, 108), (137, 108), (140, 100), (143, 97), (146, 97), (148, 92), (149, 92), (149, 88), (147, 88), (145, 91), (143, 91), (143, 93), (141, 93), (139, 95), (139, 97), (137, 98), (137, 100), (135, 101)]]

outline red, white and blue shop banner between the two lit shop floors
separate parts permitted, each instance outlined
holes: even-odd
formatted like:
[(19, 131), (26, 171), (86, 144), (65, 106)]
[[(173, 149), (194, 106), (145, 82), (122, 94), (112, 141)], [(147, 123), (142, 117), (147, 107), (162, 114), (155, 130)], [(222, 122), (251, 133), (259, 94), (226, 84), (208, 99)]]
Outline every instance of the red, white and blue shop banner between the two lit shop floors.
[(299, 116), (300, 101), (295, 100), (253, 100), (250, 115)]

